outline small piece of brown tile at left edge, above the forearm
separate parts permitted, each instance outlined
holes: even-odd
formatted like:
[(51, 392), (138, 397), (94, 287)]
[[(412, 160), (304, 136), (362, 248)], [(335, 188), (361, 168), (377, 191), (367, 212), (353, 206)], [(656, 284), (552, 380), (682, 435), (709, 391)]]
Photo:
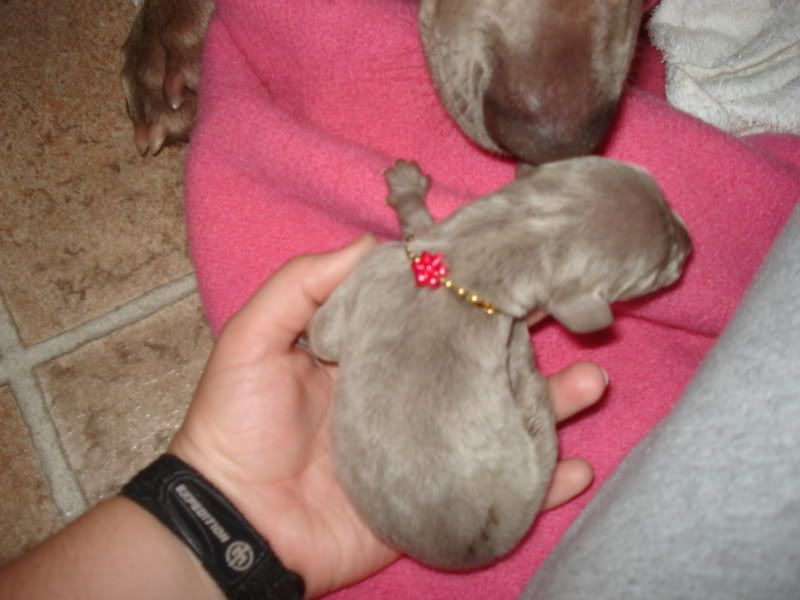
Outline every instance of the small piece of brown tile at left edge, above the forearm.
[(0, 563), (56, 531), (62, 518), (8, 386), (0, 387)]

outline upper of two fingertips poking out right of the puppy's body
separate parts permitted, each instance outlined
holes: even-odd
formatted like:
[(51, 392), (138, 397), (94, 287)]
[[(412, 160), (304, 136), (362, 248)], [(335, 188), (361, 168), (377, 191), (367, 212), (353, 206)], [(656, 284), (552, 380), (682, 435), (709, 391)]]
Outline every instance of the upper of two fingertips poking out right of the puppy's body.
[(548, 380), (557, 421), (563, 421), (588, 408), (605, 392), (608, 376), (591, 362), (576, 362)]

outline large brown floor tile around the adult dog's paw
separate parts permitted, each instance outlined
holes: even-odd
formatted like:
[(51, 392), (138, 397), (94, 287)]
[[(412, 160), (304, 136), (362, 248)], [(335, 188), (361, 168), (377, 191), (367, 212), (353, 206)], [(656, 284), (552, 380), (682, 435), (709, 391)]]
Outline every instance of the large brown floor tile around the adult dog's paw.
[(141, 158), (128, 0), (0, 2), (0, 281), (30, 344), (190, 271), (184, 150)]

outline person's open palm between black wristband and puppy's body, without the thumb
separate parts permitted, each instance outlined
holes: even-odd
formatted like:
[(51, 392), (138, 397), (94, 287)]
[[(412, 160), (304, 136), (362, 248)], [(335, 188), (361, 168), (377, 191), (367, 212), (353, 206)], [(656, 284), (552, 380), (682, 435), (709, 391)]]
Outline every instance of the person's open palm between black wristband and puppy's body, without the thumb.
[(356, 515), (334, 477), (334, 375), (300, 349), (239, 364), (215, 351), (192, 403), (195, 414), (176, 437), (179, 447), (202, 449), (203, 464), (220, 465), (224, 472), (215, 481), (229, 497), (236, 494), (235, 504), (265, 539), (290, 540), (298, 556), (313, 557), (314, 595), (396, 557)]

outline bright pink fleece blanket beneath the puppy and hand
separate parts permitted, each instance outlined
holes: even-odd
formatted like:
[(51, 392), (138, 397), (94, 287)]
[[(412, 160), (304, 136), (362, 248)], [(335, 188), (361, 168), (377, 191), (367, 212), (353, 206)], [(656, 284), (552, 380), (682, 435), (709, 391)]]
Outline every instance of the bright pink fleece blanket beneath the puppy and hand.
[[(472, 145), (441, 108), (415, 2), (218, 4), (186, 185), (191, 252), (214, 332), (289, 257), (367, 231), (397, 239), (382, 177), (396, 158), (432, 175), (437, 218), (513, 177), (511, 162)], [(694, 252), (678, 286), (617, 307), (609, 331), (575, 337), (546, 323), (532, 332), (545, 373), (591, 359), (610, 375), (600, 406), (561, 428), (562, 454), (587, 457), (595, 484), (542, 516), (491, 568), (445, 574), (402, 559), (335, 598), (514, 598), (614, 467), (670, 411), (800, 198), (800, 138), (737, 139), (674, 110), (646, 41), (633, 72), (601, 152), (656, 177)]]

